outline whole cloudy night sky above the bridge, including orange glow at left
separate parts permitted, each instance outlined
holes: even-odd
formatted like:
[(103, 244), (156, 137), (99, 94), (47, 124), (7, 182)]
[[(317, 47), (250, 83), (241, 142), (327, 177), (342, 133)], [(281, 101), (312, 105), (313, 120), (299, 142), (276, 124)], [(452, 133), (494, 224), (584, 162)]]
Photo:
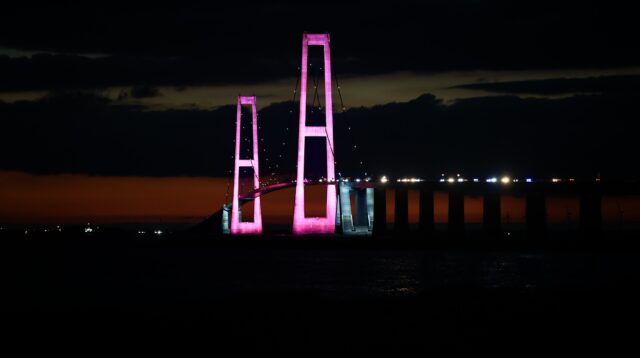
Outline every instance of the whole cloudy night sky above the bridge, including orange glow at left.
[(227, 190), (238, 94), (258, 97), (263, 175), (286, 177), (304, 31), (331, 34), (343, 175), (637, 179), (640, 24), (626, 6), (5, 7), (0, 222), (206, 216)]

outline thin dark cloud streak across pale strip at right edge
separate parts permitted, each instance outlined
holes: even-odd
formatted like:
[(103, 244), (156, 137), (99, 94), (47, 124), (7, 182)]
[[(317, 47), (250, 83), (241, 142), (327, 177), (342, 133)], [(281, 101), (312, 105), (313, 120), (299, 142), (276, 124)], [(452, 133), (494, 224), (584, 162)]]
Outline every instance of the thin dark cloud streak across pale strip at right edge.
[(471, 83), (453, 88), (488, 92), (557, 95), (566, 93), (633, 93), (640, 91), (640, 76), (550, 78), (545, 80)]

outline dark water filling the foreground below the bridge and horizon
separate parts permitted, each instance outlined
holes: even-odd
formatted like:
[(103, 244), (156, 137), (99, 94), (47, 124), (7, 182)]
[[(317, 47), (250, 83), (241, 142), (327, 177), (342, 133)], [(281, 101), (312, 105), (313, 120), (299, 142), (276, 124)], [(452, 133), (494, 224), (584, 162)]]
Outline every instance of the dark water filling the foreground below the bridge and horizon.
[(637, 250), (85, 240), (2, 257), (3, 337), (25, 356), (637, 350)]

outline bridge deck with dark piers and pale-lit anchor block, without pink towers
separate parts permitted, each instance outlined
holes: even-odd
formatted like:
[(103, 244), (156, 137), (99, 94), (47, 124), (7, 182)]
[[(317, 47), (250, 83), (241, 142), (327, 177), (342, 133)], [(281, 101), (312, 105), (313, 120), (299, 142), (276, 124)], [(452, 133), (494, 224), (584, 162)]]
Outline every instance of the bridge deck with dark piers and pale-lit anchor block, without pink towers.
[[(639, 183), (609, 182), (535, 182), (535, 183), (441, 183), (441, 182), (307, 182), (305, 186), (338, 186), (336, 201), (336, 233), (342, 235), (385, 235), (408, 233), (409, 192), (419, 195), (418, 230), (429, 236), (435, 232), (435, 193), (448, 196), (447, 230), (453, 235), (463, 235), (468, 229), (465, 225), (465, 196), (482, 197), (482, 230), (488, 234), (499, 234), (503, 230), (501, 198), (505, 196), (521, 197), (525, 201), (525, 230), (528, 236), (543, 236), (548, 230), (547, 200), (554, 197), (573, 197), (579, 202), (577, 220), (579, 230), (598, 234), (602, 231), (603, 196), (638, 196)], [(296, 183), (269, 185), (240, 198), (241, 205), (279, 190), (294, 188)], [(387, 220), (387, 192), (393, 191), (393, 220)], [(357, 206), (354, 213), (351, 207), (351, 194), (355, 194)], [(391, 206), (391, 205), (389, 205)], [(221, 212), (229, 211), (229, 205)], [(363, 213), (366, 213), (364, 215)], [(224, 215), (223, 215), (224, 217)], [(228, 217), (228, 216), (227, 216)], [(223, 232), (225, 229), (223, 219)]]

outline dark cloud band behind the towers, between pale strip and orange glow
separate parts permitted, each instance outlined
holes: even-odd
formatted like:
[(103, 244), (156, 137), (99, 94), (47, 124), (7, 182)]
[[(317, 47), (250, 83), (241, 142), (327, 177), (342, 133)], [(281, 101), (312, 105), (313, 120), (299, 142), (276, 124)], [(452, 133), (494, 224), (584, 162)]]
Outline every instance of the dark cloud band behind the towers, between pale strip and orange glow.
[[(407, 103), (354, 108), (335, 116), (337, 169), (344, 175), (367, 170), (432, 178), (440, 172), (637, 177), (633, 123), (640, 115), (639, 100), (637, 94), (556, 100), (502, 96), (445, 105), (424, 95)], [(293, 173), (296, 116), (295, 103), (260, 112), (264, 175), (269, 165)], [(0, 168), (41, 174), (226, 175), (233, 163), (234, 121), (235, 106), (149, 111), (92, 94), (3, 103), (0, 150), (7, 155), (0, 158)]]

